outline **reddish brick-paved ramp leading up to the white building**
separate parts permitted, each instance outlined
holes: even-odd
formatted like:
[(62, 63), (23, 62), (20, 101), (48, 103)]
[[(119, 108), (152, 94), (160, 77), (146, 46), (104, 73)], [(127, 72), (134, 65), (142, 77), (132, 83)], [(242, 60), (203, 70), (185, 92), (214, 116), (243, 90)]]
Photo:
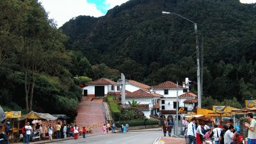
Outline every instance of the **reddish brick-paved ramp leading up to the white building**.
[[(105, 123), (105, 116), (102, 108), (102, 98), (93, 99), (83, 97), (77, 108), (76, 124), (78, 127), (92, 127), (95, 134), (102, 134), (102, 126)], [(89, 129), (88, 129), (89, 130)]]

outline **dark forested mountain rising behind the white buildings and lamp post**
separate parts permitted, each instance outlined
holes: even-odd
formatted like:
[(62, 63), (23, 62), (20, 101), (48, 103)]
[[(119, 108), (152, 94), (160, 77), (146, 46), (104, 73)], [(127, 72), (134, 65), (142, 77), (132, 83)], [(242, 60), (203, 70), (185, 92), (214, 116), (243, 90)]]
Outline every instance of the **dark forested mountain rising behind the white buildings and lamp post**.
[(130, 0), (104, 17), (79, 16), (60, 29), (70, 38), (68, 48), (81, 51), (98, 69), (103, 64), (148, 85), (182, 82), (185, 77), (196, 81), (194, 24), (177, 15), (162, 15), (162, 11), (198, 24), (204, 96), (219, 100), (237, 97), (241, 103), (256, 98), (255, 4)]

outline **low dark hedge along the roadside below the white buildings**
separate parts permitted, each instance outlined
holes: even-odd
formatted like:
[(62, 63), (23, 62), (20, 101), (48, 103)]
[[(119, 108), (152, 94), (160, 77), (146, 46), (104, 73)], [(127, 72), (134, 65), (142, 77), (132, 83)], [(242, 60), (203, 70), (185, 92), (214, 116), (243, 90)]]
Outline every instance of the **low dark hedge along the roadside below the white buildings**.
[(148, 125), (156, 125), (159, 124), (158, 120), (150, 120), (150, 119), (145, 119), (145, 120), (125, 120), (125, 121), (120, 121), (116, 122), (115, 126), (120, 127), (122, 124), (125, 126), (125, 124), (129, 124), (131, 127), (135, 126), (148, 126)]

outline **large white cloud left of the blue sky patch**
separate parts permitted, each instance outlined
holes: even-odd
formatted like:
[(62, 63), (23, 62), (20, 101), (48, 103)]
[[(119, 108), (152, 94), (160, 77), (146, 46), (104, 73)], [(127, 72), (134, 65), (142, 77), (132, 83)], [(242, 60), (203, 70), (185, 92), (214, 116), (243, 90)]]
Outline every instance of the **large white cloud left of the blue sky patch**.
[(38, 0), (38, 2), (42, 3), (45, 11), (49, 12), (49, 18), (53, 18), (58, 27), (79, 15), (90, 15), (93, 17), (104, 15), (104, 13), (97, 10), (95, 4), (89, 4), (86, 0)]

